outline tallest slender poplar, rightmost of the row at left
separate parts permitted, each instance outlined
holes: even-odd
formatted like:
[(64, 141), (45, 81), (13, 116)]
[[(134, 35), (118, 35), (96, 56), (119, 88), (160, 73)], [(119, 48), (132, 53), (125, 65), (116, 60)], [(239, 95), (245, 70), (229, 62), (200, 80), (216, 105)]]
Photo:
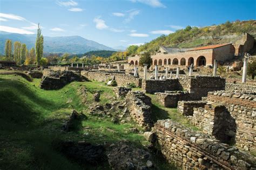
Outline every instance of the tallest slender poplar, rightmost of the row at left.
[(43, 57), (44, 52), (44, 37), (41, 34), (41, 29), (38, 23), (37, 38), (36, 38), (36, 64), (40, 64), (40, 60)]

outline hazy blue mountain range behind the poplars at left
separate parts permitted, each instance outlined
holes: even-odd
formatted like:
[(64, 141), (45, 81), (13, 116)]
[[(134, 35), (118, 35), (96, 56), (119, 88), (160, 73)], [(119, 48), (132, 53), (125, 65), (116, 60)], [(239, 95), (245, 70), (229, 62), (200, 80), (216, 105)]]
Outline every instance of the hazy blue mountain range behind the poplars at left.
[[(35, 47), (36, 34), (17, 34), (0, 31), (0, 54), (4, 54), (6, 39), (12, 40), (12, 43), (20, 41), (21, 43), (26, 44), (27, 48), (30, 49)], [(117, 49), (107, 47), (92, 40), (87, 40), (80, 36), (44, 36), (44, 52), (46, 53), (82, 54), (98, 50), (118, 51)]]

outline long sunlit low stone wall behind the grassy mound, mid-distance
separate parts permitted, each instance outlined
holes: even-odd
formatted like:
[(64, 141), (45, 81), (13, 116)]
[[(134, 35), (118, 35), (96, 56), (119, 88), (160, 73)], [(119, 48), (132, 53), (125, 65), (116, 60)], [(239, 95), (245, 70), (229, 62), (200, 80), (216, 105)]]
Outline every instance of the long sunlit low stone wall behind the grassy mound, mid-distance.
[(127, 86), (127, 84), (134, 83), (137, 87), (142, 87), (142, 79), (127, 75), (124, 72), (97, 72), (97, 71), (82, 71), (81, 75), (87, 77), (89, 80), (95, 80), (100, 82), (106, 82), (114, 77), (118, 86)]

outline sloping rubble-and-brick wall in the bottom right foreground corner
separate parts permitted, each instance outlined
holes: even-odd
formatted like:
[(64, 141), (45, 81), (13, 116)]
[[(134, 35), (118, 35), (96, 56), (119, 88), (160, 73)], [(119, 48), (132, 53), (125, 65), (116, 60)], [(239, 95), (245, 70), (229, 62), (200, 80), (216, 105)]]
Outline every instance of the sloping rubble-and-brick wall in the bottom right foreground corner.
[(171, 119), (157, 121), (161, 153), (183, 169), (255, 169), (255, 158), (234, 146), (219, 143), (206, 134), (194, 132)]

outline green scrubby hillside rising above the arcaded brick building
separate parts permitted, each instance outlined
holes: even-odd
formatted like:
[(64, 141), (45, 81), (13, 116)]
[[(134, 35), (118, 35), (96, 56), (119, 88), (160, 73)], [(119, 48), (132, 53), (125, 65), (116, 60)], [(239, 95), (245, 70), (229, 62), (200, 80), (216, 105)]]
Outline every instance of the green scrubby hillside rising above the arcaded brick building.
[[(223, 44), (232, 42), (239, 38), (240, 34), (250, 33), (256, 34), (256, 20), (248, 20), (240, 22), (227, 21), (224, 24), (212, 25), (206, 27), (191, 27), (177, 30), (168, 36), (162, 35), (142, 46), (139, 46), (137, 53), (149, 51), (151, 53), (157, 51), (159, 46), (191, 48), (198, 46), (206, 46), (213, 44)], [(238, 35), (235, 37), (234, 35)]]

